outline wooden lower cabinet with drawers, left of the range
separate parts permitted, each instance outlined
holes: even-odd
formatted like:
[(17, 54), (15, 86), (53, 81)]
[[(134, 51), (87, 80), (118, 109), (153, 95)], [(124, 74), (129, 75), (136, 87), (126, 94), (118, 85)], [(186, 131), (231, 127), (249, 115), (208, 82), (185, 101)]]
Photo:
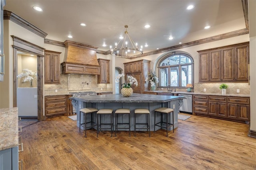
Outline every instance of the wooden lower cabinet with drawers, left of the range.
[(67, 95), (44, 96), (45, 116), (67, 115)]

